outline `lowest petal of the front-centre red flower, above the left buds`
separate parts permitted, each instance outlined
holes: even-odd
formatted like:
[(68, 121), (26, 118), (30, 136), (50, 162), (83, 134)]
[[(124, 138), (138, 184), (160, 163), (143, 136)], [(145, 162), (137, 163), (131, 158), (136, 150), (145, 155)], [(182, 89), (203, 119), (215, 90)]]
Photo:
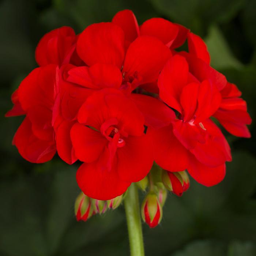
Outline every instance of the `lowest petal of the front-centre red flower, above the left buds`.
[(76, 180), (80, 189), (85, 195), (98, 200), (109, 200), (122, 195), (131, 183), (120, 180), (115, 164), (111, 170), (107, 170), (101, 161), (104, 162), (104, 159), (83, 163), (79, 167)]

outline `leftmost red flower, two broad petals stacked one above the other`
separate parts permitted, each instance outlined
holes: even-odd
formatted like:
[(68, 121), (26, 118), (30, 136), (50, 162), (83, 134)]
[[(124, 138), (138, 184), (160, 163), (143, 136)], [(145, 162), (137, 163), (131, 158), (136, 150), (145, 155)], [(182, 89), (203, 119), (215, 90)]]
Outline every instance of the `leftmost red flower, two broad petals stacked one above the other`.
[(20, 84), (19, 104), (26, 113), (18, 128), (13, 144), (27, 161), (42, 163), (56, 153), (52, 111), (56, 65), (34, 69)]

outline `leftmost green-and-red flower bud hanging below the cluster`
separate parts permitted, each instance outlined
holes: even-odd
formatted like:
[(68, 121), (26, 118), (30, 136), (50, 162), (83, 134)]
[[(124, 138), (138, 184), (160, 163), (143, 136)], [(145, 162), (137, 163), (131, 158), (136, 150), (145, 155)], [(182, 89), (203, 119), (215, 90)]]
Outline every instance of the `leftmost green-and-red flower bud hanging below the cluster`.
[(77, 221), (87, 221), (92, 216), (91, 199), (83, 192), (76, 198), (75, 215)]

